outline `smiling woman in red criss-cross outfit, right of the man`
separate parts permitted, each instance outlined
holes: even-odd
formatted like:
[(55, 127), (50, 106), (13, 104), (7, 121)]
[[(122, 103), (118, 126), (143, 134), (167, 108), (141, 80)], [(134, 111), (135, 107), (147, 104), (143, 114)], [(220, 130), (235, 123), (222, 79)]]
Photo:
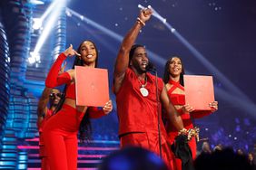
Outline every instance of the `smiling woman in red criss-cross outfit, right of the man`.
[[(202, 118), (211, 114), (218, 109), (218, 102), (212, 101), (212, 103), (209, 104), (209, 106), (212, 108), (211, 111), (195, 111), (188, 103), (185, 103), (183, 75), (184, 67), (182, 65), (182, 60), (179, 57), (174, 56), (166, 62), (163, 74), (163, 81), (165, 83), (166, 90), (168, 91), (169, 99), (171, 99), (175, 109), (177, 109), (177, 111), (182, 116), (183, 126), (186, 129), (190, 129), (193, 128), (192, 118)], [(175, 127), (173, 127), (170, 122), (167, 121), (166, 131), (168, 133), (168, 141), (170, 142), (170, 144), (172, 144), (174, 138), (178, 136), (178, 130), (175, 129)], [(189, 146), (191, 147), (192, 159), (194, 160), (196, 157), (195, 137), (192, 137), (189, 142)], [(181, 170), (181, 159), (175, 158), (173, 165), (175, 170)]]

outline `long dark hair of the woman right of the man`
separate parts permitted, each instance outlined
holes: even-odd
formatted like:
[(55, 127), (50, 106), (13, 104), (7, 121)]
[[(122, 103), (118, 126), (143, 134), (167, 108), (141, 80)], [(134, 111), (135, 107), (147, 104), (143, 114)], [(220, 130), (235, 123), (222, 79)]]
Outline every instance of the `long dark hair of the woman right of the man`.
[[(162, 77), (162, 80), (163, 82), (166, 84), (169, 82), (170, 80), (170, 71), (169, 71), (169, 65), (171, 64), (171, 61), (172, 61), (172, 58), (178, 58), (181, 60), (182, 62), (182, 59), (178, 56), (172, 56), (166, 63), (165, 63), (165, 66), (164, 66), (164, 72), (163, 72), (163, 77)], [(182, 86), (184, 86), (184, 80), (183, 80), (183, 75), (185, 74), (185, 69), (184, 69), (184, 65), (183, 65), (183, 62), (182, 62), (182, 72), (181, 72), (181, 75), (180, 75), (180, 84)]]

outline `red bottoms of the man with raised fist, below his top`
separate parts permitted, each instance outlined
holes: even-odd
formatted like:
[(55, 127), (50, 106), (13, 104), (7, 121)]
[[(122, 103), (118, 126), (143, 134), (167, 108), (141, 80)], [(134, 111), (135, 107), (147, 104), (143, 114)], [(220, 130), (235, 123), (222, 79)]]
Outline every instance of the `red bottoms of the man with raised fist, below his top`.
[[(162, 160), (172, 169), (172, 153), (164, 137), (162, 139)], [(159, 138), (157, 133), (130, 133), (120, 138), (121, 147), (141, 146), (159, 156)]]

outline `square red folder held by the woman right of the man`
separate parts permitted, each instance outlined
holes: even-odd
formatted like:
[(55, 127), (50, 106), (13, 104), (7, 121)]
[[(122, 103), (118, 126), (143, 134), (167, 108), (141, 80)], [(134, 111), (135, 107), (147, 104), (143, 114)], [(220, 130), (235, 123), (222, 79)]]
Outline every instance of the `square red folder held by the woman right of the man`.
[(209, 103), (214, 101), (212, 76), (184, 75), (186, 104), (195, 110), (211, 110)]

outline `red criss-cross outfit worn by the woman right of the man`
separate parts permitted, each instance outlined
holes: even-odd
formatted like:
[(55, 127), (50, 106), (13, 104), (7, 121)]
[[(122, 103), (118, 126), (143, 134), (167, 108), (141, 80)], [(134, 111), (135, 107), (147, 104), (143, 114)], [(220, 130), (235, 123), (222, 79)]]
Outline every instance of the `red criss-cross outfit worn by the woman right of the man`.
[[(185, 95), (184, 94), (176, 94), (172, 93), (173, 90), (176, 90), (177, 88), (180, 90), (184, 90), (184, 87), (179, 82), (176, 82), (174, 80), (169, 80), (169, 83), (172, 84), (172, 88), (168, 90), (168, 96), (169, 99), (171, 99), (172, 104), (175, 105), (185, 105)], [(177, 110), (181, 117), (182, 117), (182, 122), (183, 126), (186, 129), (193, 128), (192, 124), (192, 118), (202, 118), (206, 115), (209, 115), (212, 113), (212, 111), (200, 111), (196, 112), (196, 114), (190, 114), (190, 113), (184, 113), (182, 112), (182, 109)], [(174, 138), (178, 136), (178, 130), (172, 126), (172, 124), (167, 121), (166, 123), (166, 131), (168, 134), (168, 142), (172, 144), (174, 142)], [(195, 159), (196, 157), (196, 140), (195, 137), (192, 137), (191, 141), (189, 142), (189, 146), (191, 147), (192, 150), (192, 159)], [(179, 158), (174, 158), (173, 166), (174, 170), (182, 170), (182, 161)]]

